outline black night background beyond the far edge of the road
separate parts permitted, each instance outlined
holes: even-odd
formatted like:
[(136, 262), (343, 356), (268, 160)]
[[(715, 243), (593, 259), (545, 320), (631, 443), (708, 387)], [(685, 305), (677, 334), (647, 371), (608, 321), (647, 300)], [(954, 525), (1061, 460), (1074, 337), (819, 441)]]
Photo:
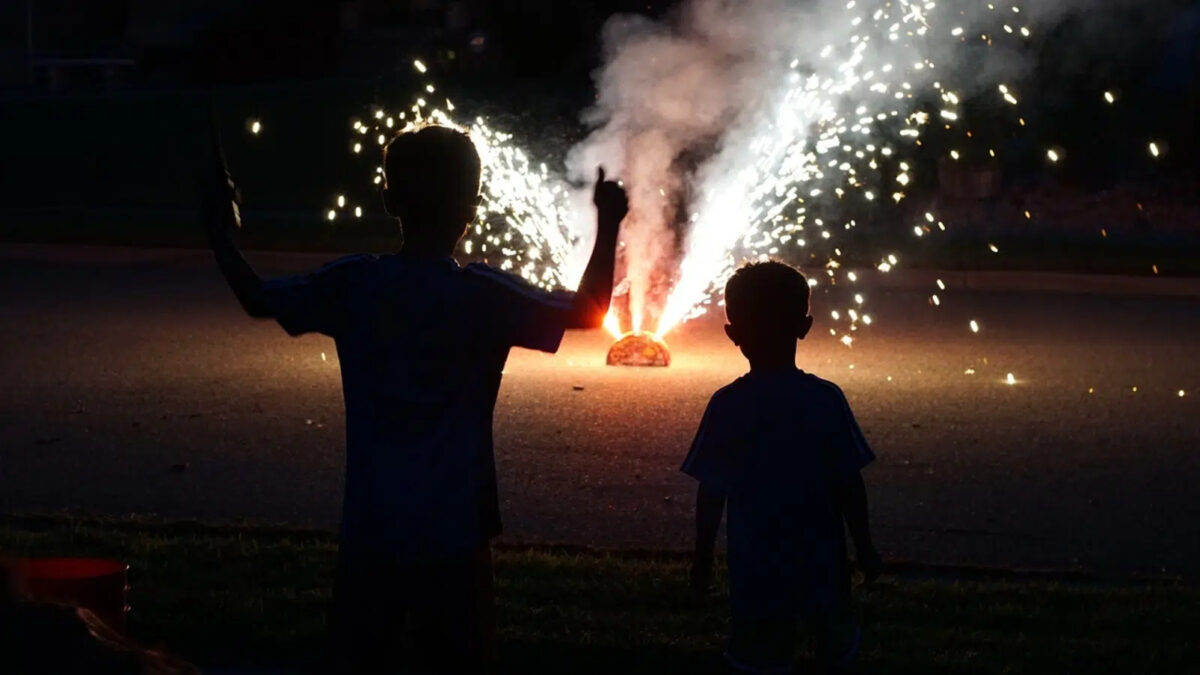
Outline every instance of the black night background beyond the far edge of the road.
[[(565, 149), (586, 132), (577, 120), (593, 95), (590, 73), (600, 62), (604, 22), (618, 12), (660, 16), (673, 5), (5, 4), (0, 199), (6, 209), (0, 237), (176, 243), (180, 223), (194, 217), (211, 119), (246, 185), (259, 244), (286, 239), (320, 246), (390, 232), (370, 187), (373, 162), (349, 151), (353, 117), (365, 117), (373, 104), (406, 106), (425, 82), (433, 82), (438, 97), (450, 96), (464, 118), (487, 115), (494, 127), (516, 132), (535, 159), (558, 166)], [(908, 208), (920, 213), (930, 202), (946, 202), (943, 210), (956, 209), (962, 219), (979, 222), (976, 232), (955, 237), (983, 240), (995, 239), (991, 231), (1006, 229), (1003, 223), (1033, 201), (1031, 193), (1051, 191), (1064, 195), (1064, 202), (1104, 193), (1112, 202), (1112, 193), (1120, 192), (1130, 208), (1092, 204), (1091, 213), (1104, 214), (1105, 222), (1093, 223), (1096, 216), (1085, 215), (1086, 228), (1058, 227), (1056, 237), (1075, 241), (1094, 238), (1103, 228), (1105, 237), (1130, 241), (1150, 238), (1174, 245), (1195, 239), (1195, 223), (1187, 215), (1183, 227), (1180, 216), (1158, 223), (1145, 215), (1142, 203), (1195, 205), (1200, 213), (1198, 36), (1200, 4), (1193, 0), (1145, 2), (1108, 12), (1103, 20), (1075, 16), (1037, 26), (1026, 48), (1037, 68), (1021, 95), (1028, 125), (998, 119), (1010, 117), (1012, 108), (997, 103), (992, 91), (965, 104), (983, 135), (978, 145), (998, 148), (1003, 163), (966, 156), (948, 174), (938, 157), (961, 138), (940, 137), (930, 129)], [(431, 66), (428, 77), (418, 79), (414, 58)], [(1105, 90), (1118, 92), (1117, 106), (1104, 104)], [(262, 120), (260, 135), (247, 132), (251, 119)], [(1168, 150), (1159, 161), (1147, 151), (1151, 138), (1162, 139)], [(1051, 145), (1062, 148), (1069, 161), (1049, 166), (1045, 149)], [(373, 149), (365, 143), (365, 155)], [(998, 191), (984, 203), (953, 204), (948, 184), (954, 173), (972, 171), (1000, 177)], [(331, 228), (322, 216), (343, 192), (365, 207), (366, 217), (341, 220)], [(1039, 209), (1043, 213), (1046, 209)], [(908, 215), (884, 210), (874, 217)], [(911, 228), (893, 229), (899, 244)], [(1044, 231), (1037, 234), (1044, 238)]]

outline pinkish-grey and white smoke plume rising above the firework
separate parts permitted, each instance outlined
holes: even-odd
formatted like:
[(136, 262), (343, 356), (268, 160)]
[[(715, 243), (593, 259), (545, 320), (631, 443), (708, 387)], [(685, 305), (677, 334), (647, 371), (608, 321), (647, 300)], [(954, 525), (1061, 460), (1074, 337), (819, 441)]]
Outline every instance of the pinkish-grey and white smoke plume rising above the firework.
[(1033, 0), (1018, 12), (982, 0), (691, 0), (662, 20), (612, 18), (584, 114), (593, 131), (568, 168), (587, 180), (604, 165), (629, 187), (625, 328), (686, 318), (755, 228), (796, 213), (805, 195), (778, 177), (836, 187), (822, 162), (868, 126), (854, 118), (869, 84), (887, 83), (895, 102), (881, 114), (904, 120), (919, 103), (907, 91), (953, 82), (965, 97), (1028, 73), (1033, 50), (980, 30), (1038, 31), (1076, 16), (1109, 36), (1120, 4), (1133, 0)]

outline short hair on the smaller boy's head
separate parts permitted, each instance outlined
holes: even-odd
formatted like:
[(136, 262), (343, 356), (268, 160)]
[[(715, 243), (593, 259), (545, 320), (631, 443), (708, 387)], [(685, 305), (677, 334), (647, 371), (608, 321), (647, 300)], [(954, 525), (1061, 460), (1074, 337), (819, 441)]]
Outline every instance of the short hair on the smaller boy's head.
[(809, 315), (809, 281), (800, 270), (779, 261), (746, 263), (725, 285), (725, 316), (730, 323), (770, 327)]

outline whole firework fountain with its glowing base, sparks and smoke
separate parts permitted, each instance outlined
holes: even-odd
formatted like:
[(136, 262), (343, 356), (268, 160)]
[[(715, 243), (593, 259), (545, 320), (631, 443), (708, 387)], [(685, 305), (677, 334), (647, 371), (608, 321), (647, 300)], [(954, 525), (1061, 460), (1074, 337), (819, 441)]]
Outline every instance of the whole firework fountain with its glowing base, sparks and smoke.
[[(764, 257), (820, 268), (812, 286), (851, 289), (829, 328), (851, 346), (871, 324), (864, 292), (856, 292), (859, 273), (841, 247), (844, 234), (860, 226), (856, 215), (904, 202), (916, 160), (930, 153), (953, 162), (995, 159), (997, 149), (965, 126), (964, 101), (991, 96), (1007, 110), (992, 119), (1024, 125), (1013, 83), (1033, 20), (1068, 8), (695, 0), (665, 22), (608, 23), (596, 104), (584, 114), (593, 131), (566, 157), (565, 178), (533, 163), (485, 120), (457, 121), (432, 83), (407, 109), (355, 120), (353, 148), (361, 153), (422, 124), (464, 129), (480, 150), (485, 190), (464, 252), (544, 287), (574, 287), (592, 245), (590, 209), (572, 185), (596, 165), (620, 175), (630, 215), (605, 322), (619, 340), (610, 363), (670, 363), (661, 336), (707, 311), (742, 261)], [(427, 74), (421, 61), (414, 67)], [(942, 138), (936, 149), (923, 142), (931, 129)], [(947, 149), (953, 133), (960, 142)], [(1055, 149), (1046, 157), (1060, 161)], [(379, 183), (382, 168), (376, 172)], [(888, 225), (918, 238), (947, 229), (932, 213)], [(894, 252), (869, 255), (878, 273), (900, 264)], [(976, 321), (971, 330), (979, 330)]]

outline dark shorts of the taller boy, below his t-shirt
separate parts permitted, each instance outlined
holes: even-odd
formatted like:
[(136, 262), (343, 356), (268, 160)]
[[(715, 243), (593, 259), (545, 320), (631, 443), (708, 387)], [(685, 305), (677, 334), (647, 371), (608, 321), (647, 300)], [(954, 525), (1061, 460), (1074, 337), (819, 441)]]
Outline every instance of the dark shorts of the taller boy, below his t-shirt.
[(492, 555), (431, 562), (341, 555), (332, 650), (341, 673), (485, 673), (494, 658)]

